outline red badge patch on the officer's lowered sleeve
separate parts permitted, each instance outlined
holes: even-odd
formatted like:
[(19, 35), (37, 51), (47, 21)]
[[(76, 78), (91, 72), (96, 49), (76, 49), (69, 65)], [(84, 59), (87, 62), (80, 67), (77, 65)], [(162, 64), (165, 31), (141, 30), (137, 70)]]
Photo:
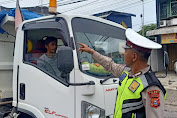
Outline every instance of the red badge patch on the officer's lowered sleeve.
[(159, 90), (151, 90), (148, 92), (148, 95), (151, 98), (151, 107), (158, 108), (160, 106), (159, 94)]

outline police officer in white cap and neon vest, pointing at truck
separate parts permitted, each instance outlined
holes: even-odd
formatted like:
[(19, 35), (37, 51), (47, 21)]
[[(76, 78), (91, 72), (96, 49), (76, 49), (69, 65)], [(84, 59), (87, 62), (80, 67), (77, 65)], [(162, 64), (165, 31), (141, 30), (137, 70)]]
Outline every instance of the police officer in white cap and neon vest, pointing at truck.
[(162, 46), (132, 29), (125, 32), (125, 65), (116, 64), (83, 43), (79, 51), (92, 54), (107, 71), (119, 77), (114, 118), (164, 118), (166, 90), (147, 64), (152, 49)]

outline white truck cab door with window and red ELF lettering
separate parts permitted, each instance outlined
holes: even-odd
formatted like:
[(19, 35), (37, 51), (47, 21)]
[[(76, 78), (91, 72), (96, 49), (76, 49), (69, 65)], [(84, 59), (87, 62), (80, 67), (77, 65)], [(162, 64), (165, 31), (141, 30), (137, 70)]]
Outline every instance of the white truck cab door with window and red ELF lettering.
[[(74, 87), (57, 69), (56, 58), (60, 46), (69, 46), (66, 21), (56, 18), (29, 22), (23, 31), (23, 56), (18, 66), (19, 110), (37, 118), (74, 118)], [(74, 71), (69, 79), (74, 80)]]

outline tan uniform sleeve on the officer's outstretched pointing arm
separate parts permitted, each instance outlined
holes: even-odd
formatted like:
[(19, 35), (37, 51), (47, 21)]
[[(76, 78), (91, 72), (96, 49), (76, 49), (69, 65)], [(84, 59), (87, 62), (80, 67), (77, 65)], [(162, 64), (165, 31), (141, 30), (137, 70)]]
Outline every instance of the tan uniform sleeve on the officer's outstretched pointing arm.
[(98, 52), (93, 53), (93, 59), (101, 64), (106, 71), (111, 72), (116, 77), (120, 77), (125, 68), (125, 65), (116, 64), (111, 58), (103, 56)]

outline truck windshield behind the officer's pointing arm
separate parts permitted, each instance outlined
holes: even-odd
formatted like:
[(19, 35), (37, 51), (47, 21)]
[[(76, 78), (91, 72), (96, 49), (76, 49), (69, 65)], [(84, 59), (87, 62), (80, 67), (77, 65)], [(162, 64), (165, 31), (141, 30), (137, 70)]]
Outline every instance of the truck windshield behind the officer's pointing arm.
[[(124, 29), (83, 18), (74, 18), (72, 25), (76, 42), (88, 45), (102, 55), (112, 58), (115, 63), (124, 63), (122, 48), (126, 42)], [(79, 45), (77, 49), (78, 47)], [(90, 54), (78, 52), (78, 59), (82, 72), (97, 77), (111, 76), (111, 73), (105, 71)]]

